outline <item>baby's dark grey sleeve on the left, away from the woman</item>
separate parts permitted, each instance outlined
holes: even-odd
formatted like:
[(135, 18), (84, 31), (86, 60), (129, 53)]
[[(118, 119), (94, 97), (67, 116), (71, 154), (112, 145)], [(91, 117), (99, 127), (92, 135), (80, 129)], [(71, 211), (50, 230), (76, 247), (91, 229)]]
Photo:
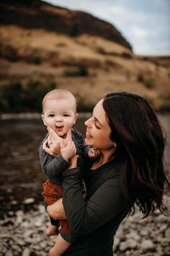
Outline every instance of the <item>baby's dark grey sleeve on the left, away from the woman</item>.
[(42, 171), (49, 178), (57, 177), (63, 170), (68, 168), (69, 162), (62, 157), (61, 153), (53, 157), (42, 149), (42, 144), (40, 145), (39, 153)]

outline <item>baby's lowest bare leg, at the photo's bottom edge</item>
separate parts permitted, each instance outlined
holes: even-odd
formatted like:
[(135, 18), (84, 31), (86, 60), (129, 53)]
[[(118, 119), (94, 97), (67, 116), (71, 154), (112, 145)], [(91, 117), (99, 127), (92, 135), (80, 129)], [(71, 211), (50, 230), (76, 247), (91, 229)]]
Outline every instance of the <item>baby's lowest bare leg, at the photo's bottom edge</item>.
[(68, 243), (66, 240), (63, 239), (61, 234), (59, 234), (53, 248), (51, 248), (49, 251), (49, 256), (63, 255), (63, 253), (66, 252), (66, 249), (68, 249), (70, 245), (71, 243)]

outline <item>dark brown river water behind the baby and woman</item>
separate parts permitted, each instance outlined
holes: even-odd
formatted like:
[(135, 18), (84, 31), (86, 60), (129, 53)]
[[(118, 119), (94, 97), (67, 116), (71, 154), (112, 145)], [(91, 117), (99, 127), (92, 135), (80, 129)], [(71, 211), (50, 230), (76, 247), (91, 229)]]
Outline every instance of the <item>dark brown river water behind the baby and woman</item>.
[[(90, 114), (81, 115), (75, 128), (83, 135), (84, 121)], [(168, 135), (165, 158), (170, 170), (170, 114), (158, 114)], [(39, 161), (39, 145), (45, 137), (46, 128), (39, 117), (0, 119), (0, 204), (4, 212), (23, 207), (22, 202), (33, 197), (42, 200), (42, 174)], [(25, 205), (24, 205), (25, 207)]]

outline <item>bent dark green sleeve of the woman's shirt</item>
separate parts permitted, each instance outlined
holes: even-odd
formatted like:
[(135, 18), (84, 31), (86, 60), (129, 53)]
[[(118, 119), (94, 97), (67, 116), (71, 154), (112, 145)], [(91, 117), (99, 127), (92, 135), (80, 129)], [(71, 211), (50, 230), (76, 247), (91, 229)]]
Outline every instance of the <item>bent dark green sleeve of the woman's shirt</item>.
[(115, 179), (108, 179), (89, 200), (84, 200), (79, 168), (64, 171), (63, 178), (63, 206), (69, 229), (77, 236), (99, 229), (125, 208), (124, 197)]

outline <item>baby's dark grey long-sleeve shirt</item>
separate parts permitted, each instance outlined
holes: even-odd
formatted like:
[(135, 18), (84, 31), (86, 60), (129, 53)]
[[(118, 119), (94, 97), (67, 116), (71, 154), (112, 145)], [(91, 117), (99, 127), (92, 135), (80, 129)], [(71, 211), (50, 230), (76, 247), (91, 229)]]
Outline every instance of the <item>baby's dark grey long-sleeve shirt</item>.
[[(46, 135), (45, 140), (47, 137), (48, 135)], [(80, 132), (77, 132), (75, 129), (71, 129), (71, 137), (76, 145), (76, 153), (77, 155), (79, 155), (78, 166), (82, 179), (84, 176), (84, 166), (86, 165), (85, 162), (88, 162), (89, 159), (87, 156), (89, 147), (84, 145), (84, 137), (81, 135)], [(43, 140), (42, 143), (45, 140)], [(55, 157), (46, 153), (45, 150), (42, 149), (42, 143), (39, 150), (42, 171), (45, 173), (46, 176), (48, 176), (48, 179), (50, 179), (51, 182), (55, 184), (62, 184), (62, 171), (68, 168), (69, 162), (62, 157), (61, 153), (58, 153), (58, 155)]]

